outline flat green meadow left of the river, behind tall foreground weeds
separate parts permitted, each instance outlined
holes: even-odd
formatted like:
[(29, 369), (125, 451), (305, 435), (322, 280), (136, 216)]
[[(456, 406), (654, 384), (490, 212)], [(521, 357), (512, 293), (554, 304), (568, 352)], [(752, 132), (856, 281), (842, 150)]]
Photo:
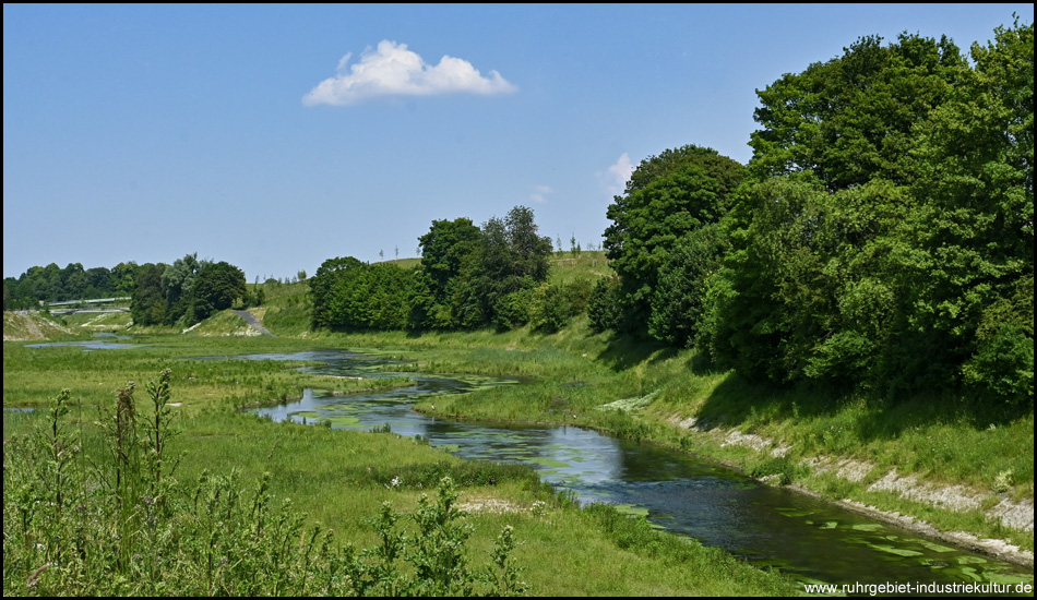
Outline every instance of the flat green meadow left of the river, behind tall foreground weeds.
[[(97, 351), (84, 351), (78, 346), (34, 349), (26, 348), (24, 343), (8, 341), (4, 344), (4, 406), (34, 406), (37, 410), (5, 415), (5, 467), (14, 465), (9, 464), (14, 460), (20, 468), (25, 468), (24, 453), (35, 444), (19, 445), (16, 441), (25, 440), (25, 435), (46, 441), (45, 433), (33, 432), (49, 431), (48, 411), (44, 408), (58, 391), (69, 388), (72, 404), (62, 422), (82, 452), (65, 467), (63, 483), (58, 488), (63, 488), (67, 500), (90, 497), (93, 493), (88, 483), (91, 473), (104, 470), (111, 457), (110, 443), (105, 442), (95, 424), (104, 420), (102, 407), (111, 407), (116, 389), (130, 381), (136, 382), (140, 401), (144, 397), (144, 383), (155, 381), (162, 369), (169, 368), (172, 373), (171, 423), (179, 434), (171, 439), (166, 452), (169, 456), (182, 456), (175, 473), (178, 491), (170, 493), (179, 493), (183, 502), (189, 501), (192, 490), (203, 489), (195, 482), (206, 470), (212, 473), (204, 476), (208, 477), (210, 485), (215, 475), (236, 473), (246, 497), (254, 493), (252, 490), (262, 473), (269, 472), (271, 505), (291, 499), (293, 514), (306, 514), (306, 523), (319, 521), (333, 528), (335, 544), (349, 542), (359, 548), (374, 548), (380, 538), (368, 519), (379, 514), (382, 502), (390, 501), (397, 511), (415, 513), (421, 495), (434, 494), (440, 479), (449, 476), (460, 488), (460, 506), (470, 514), (465, 523), (474, 527), (467, 544), (472, 564), (488, 563), (494, 539), (510, 526), (520, 542), (511, 560), (524, 569), (521, 578), (536, 595), (728, 596), (787, 595), (798, 590), (787, 580), (735, 561), (720, 551), (658, 533), (643, 519), (631, 519), (607, 508), (581, 511), (541, 485), (526, 468), (463, 461), (421, 441), (394, 434), (277, 424), (235, 410), (258, 401), (295, 397), (303, 386), (348, 393), (350, 388), (369, 387), (374, 380), (358, 382), (308, 375), (290, 369), (301, 364), (296, 362), (198, 358), (288, 352), (311, 349), (314, 345), (341, 348), (351, 341), (337, 336), (324, 337), (314, 344), (284, 337), (205, 337), (192, 333), (145, 336), (134, 339), (132, 349)], [(40, 460), (46, 466), (45, 458)], [(4, 472), (7, 477), (9, 470), (5, 468)], [(48, 472), (52, 473), (46, 468), (39, 471), (43, 478), (49, 477)], [(5, 488), (7, 483), (5, 480)], [(14, 488), (12, 484), (11, 490)], [(35, 493), (44, 497), (52, 492), (51, 485)], [(25, 499), (13, 492), (5, 493), (4, 497), (5, 524), (9, 516), (13, 519), (25, 506), (38, 506), (29, 503), (20, 508), (14, 504), (17, 499)], [(14, 504), (9, 506), (9, 500)], [(61, 505), (61, 502), (52, 503), (53, 499), (43, 502), (45, 506)], [(85, 542), (80, 539), (67, 540), (68, 544), (55, 543), (61, 539), (48, 536), (59, 536), (64, 529), (46, 524), (64, 521), (44, 517), (40, 516), (43, 525), (36, 533), (39, 541), (26, 543), (25, 548), (22, 548), (21, 536), (15, 536), (16, 528), (4, 528), (5, 596), (154, 591), (155, 580), (141, 583), (126, 573), (104, 571), (116, 568), (110, 565), (72, 573), (70, 559), (55, 559), (48, 552), (57, 550), (49, 549), (57, 545), (88, 548), (93, 550), (87, 554), (96, 555), (100, 551), (87, 542), (94, 540), (102, 544), (98, 548), (104, 548), (104, 540), (110, 539), (111, 533), (95, 532), (88, 535)], [(406, 519), (398, 525), (404, 523), (413, 535), (416, 525)], [(196, 545), (188, 542), (188, 549)], [(22, 550), (15, 552), (15, 548)], [(180, 554), (184, 552), (181, 549)], [(134, 560), (146, 563), (147, 557), (128, 559), (131, 565), (135, 564)], [(193, 571), (172, 559), (162, 564), (169, 571), (158, 577), (169, 585), (204, 579), (204, 575), (189, 577)], [(286, 568), (297, 566), (286, 565)], [(226, 587), (230, 585), (226, 577), (211, 577), (216, 581), (214, 587), (191, 589), (195, 592), (234, 589)], [(69, 587), (70, 579), (80, 587)], [(245, 584), (240, 586), (243, 589)], [(166, 589), (166, 593), (176, 592), (177, 589)]]

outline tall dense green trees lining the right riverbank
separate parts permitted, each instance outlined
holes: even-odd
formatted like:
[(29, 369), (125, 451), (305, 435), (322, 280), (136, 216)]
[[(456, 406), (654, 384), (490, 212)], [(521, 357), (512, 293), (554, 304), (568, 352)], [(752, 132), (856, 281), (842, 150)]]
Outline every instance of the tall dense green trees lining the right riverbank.
[(758, 91), (749, 164), (694, 145), (608, 208), (592, 327), (776, 384), (1034, 395), (1034, 29), (863, 37)]

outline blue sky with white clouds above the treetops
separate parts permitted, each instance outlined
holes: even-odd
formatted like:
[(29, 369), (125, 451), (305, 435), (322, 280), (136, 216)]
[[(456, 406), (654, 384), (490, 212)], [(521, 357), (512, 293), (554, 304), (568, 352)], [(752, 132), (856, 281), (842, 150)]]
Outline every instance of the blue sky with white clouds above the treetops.
[(755, 89), (783, 73), (865, 35), (967, 49), (1013, 12), (1033, 22), (1023, 3), (4, 4), (3, 275), (189, 253), (312, 275), (520, 204), (598, 247), (642, 159), (748, 161)]

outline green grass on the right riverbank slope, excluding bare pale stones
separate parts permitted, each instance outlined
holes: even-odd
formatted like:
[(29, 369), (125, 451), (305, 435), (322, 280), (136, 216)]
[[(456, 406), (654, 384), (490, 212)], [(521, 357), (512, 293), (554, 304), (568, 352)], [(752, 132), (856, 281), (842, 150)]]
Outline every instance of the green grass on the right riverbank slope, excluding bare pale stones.
[[(552, 268), (555, 280), (609, 273), (601, 253), (584, 252), (572, 262), (565, 253), (562, 260), (567, 262)], [(775, 389), (711, 370), (694, 350), (592, 335), (585, 319), (576, 319), (555, 335), (526, 328), (504, 334), (336, 334), (334, 338), (349, 346), (400, 352), (429, 371), (514, 375), (527, 382), (438, 400), (434, 412), (440, 416), (575, 422), (694, 451), (747, 473), (777, 468), (768, 453), (724, 445), (719, 433), (737, 429), (790, 448), (784, 470), (791, 472), (776, 473), (783, 476), (778, 481), (795, 482), (832, 500), (851, 497), (885, 511), (925, 514), (944, 530), (964, 529), (1034, 548), (1033, 532), (1008, 530), (976, 511), (932, 506), (922, 511), (917, 502), (867, 490), (874, 479), (895, 469), (922, 484), (964, 485), (996, 497), (1033, 501), (1032, 410), (990, 410), (964, 395), (879, 401), (810, 388)], [(651, 404), (635, 412), (597, 410), (648, 394), (655, 394)], [(418, 408), (431, 411), (431, 404)], [(690, 419), (698, 421), (696, 429), (675, 427)], [(872, 475), (860, 483), (839, 480), (833, 487), (830, 477), (798, 466), (817, 459), (867, 461), (873, 465)]]

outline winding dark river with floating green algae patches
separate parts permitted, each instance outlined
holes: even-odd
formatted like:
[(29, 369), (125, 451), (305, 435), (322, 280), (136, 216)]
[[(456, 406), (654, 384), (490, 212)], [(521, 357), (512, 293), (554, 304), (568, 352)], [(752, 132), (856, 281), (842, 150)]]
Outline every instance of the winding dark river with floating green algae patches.
[(293, 420), (369, 431), (421, 435), (455, 455), (516, 461), (573, 492), (581, 503), (605, 502), (647, 516), (666, 530), (720, 548), (761, 567), (807, 583), (1033, 583), (1020, 567), (892, 527), (782, 488), (761, 484), (687, 454), (636, 444), (574, 427), (506, 427), (458, 422), (415, 412), (419, 398), (463, 394), (508, 380), (453, 379), (386, 372), (386, 361), (347, 351), (235, 357), (309, 360), (308, 370), (344, 376), (396, 376), (416, 384), (373, 394), (334, 396), (307, 389), (302, 399), (253, 411)]

